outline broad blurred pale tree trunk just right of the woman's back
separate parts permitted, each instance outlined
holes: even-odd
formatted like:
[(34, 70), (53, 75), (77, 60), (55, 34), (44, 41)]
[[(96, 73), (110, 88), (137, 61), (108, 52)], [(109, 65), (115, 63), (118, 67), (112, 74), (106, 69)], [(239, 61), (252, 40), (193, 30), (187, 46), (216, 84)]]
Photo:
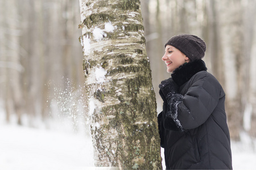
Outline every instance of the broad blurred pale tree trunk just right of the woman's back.
[[(229, 3), (223, 1), (217, 3), (218, 13), (222, 14), (220, 27), (222, 28), (220, 43), (224, 48), (223, 59), (225, 69), (225, 92), (226, 110), (230, 137), (235, 140), (240, 139), (242, 130), (242, 118), (245, 105), (242, 103), (243, 96), (243, 76), (245, 74), (245, 59), (243, 59), (243, 10), (241, 1)], [(230, 6), (230, 10), (226, 10)], [(225, 11), (225, 12), (224, 12)]]

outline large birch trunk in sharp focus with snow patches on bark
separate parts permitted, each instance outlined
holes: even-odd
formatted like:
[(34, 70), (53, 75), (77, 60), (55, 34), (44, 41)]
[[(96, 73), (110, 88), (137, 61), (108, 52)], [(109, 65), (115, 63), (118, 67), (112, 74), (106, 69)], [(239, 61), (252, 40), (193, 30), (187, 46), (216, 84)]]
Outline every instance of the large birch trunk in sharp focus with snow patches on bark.
[(80, 0), (97, 167), (162, 169), (155, 93), (138, 0)]

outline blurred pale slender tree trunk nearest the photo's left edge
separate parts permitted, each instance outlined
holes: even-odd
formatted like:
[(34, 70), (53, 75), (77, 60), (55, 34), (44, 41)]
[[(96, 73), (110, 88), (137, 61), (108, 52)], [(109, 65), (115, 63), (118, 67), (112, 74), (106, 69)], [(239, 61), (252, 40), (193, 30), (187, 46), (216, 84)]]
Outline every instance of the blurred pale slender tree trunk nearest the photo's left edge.
[[(9, 87), (6, 88), (7, 90), (7, 95), (11, 95), (11, 100), (13, 101), (12, 103), (10, 101), (10, 98), (7, 97), (7, 113), (13, 110), (17, 116), (17, 123), (19, 125), (22, 124), (21, 122), (21, 114), (22, 114), (22, 106), (23, 106), (23, 92), (22, 92), (22, 86), (20, 83), (20, 77), (21, 73), (23, 71), (23, 67), (20, 65), (20, 56), (19, 56), (19, 20), (17, 19), (18, 13), (17, 13), (17, 6), (16, 6), (16, 1), (15, 0), (10, 0), (6, 1), (6, 8), (10, 9), (9, 11), (6, 11), (6, 16), (9, 17), (7, 19), (7, 28), (9, 35), (7, 36), (7, 61), (9, 62), (10, 65), (13, 67), (10, 67), (7, 69), (7, 79), (6, 83), (7, 85), (10, 85)], [(11, 20), (17, 19), (16, 22), (11, 22)], [(7, 29), (6, 29), (7, 30)], [(9, 94), (10, 92), (10, 94)], [(9, 107), (13, 107), (9, 108)], [(10, 109), (10, 110), (9, 110)], [(9, 110), (9, 111), (8, 111)], [(10, 113), (8, 113), (10, 114)]]

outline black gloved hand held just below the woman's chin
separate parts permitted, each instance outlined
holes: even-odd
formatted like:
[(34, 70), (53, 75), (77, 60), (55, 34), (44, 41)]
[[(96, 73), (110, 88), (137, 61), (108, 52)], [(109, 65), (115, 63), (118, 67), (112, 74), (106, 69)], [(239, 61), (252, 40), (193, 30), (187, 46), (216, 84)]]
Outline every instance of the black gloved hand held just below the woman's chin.
[(162, 94), (159, 92), (161, 97), (162, 97), (162, 95), (167, 97), (168, 95), (179, 91), (179, 86), (177, 86), (177, 84), (174, 82), (174, 80), (172, 78), (163, 80), (159, 84), (159, 88), (160, 88), (160, 91), (162, 91)]

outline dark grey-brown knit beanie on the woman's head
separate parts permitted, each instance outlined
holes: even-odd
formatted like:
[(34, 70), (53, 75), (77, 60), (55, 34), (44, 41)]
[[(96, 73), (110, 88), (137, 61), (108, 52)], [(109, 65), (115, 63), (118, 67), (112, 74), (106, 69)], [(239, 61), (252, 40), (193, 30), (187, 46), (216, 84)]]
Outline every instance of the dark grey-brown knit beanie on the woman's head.
[(174, 46), (185, 54), (191, 61), (204, 57), (206, 50), (205, 42), (195, 35), (181, 34), (171, 37), (166, 45)]

